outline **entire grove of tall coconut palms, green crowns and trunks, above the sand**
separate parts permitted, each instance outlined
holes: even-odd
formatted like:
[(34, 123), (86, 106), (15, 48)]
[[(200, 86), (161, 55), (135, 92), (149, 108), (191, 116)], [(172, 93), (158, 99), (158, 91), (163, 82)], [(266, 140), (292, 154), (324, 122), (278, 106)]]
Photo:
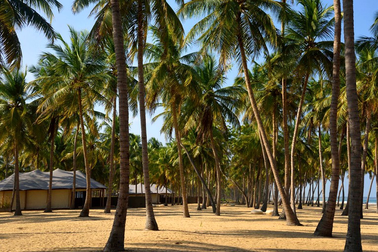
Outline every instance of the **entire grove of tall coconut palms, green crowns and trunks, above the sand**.
[[(344, 251), (362, 251), (363, 189), (372, 187), (364, 177), (378, 172), (378, 12), (371, 34), (354, 37), (353, 0), (343, 10), (340, 0), (176, 4), (177, 12), (166, 0), (75, 0), (78, 15), (95, 6), (96, 22), (69, 27), (65, 40), (45, 19), (58, 1), (0, 3), (0, 180), (14, 173), (15, 215), (20, 172), (80, 170), (81, 217), (90, 215), (89, 178), (108, 187), (108, 199), (118, 195), (104, 251), (127, 247), (129, 184), (138, 183), (148, 230), (159, 229), (155, 183), (180, 197), (184, 218), (189, 196), (215, 215), (224, 201), (264, 212), (273, 202), (288, 225), (315, 204), (317, 236), (332, 236), (339, 207), (349, 218)], [(187, 19), (197, 23), (185, 33)], [(27, 25), (50, 44), (25, 69), (17, 29)], [(235, 79), (226, 78), (231, 67)], [(146, 113), (163, 121), (167, 143), (147, 138)], [(129, 132), (134, 117), (140, 135)]]

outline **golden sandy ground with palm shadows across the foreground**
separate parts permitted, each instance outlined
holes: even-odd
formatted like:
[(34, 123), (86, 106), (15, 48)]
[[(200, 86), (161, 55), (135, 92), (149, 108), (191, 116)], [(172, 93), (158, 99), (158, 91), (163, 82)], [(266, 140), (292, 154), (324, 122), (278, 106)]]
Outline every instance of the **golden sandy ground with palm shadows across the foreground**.
[[(361, 221), (365, 252), (378, 252), (378, 214), (365, 210)], [(128, 251), (177, 252), (317, 252), (343, 251), (347, 217), (337, 210), (334, 238), (312, 236), (321, 209), (305, 206), (297, 212), (304, 226), (286, 226), (285, 221), (267, 215), (251, 215), (244, 206), (222, 206), (221, 216), (211, 209), (197, 211), (189, 205), (191, 218), (182, 218), (182, 206), (155, 208), (160, 231), (145, 231), (144, 209), (129, 209), (125, 247)], [(114, 211), (112, 210), (114, 213)], [(98, 252), (105, 245), (114, 214), (91, 210), (90, 218), (80, 211), (57, 210), (45, 214), (25, 211), (14, 217), (0, 213), (1, 252)]]

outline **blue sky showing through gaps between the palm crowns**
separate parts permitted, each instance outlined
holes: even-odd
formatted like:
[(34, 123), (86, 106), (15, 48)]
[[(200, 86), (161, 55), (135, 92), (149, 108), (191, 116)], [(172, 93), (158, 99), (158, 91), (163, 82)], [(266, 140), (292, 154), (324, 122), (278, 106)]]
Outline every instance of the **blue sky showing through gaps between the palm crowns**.
[[(72, 26), (75, 30), (90, 30), (94, 24), (93, 18), (88, 18), (90, 9), (84, 10), (79, 14), (73, 15), (71, 12), (72, 1), (61, 0), (60, 1), (64, 8), (60, 13), (55, 14), (55, 19), (52, 22), (52, 26), (56, 32), (62, 34), (65, 39), (69, 39), (69, 29), (68, 26)], [(174, 2), (171, 0), (170, 2)], [(323, 0), (324, 4), (332, 5), (333, 0)], [(374, 13), (378, 11), (377, 0), (355, 0), (354, 1), (354, 28), (355, 36), (370, 35), (369, 28), (374, 21)], [(185, 31), (189, 31), (190, 28), (196, 20), (184, 21), (183, 25)], [(23, 65), (31, 66), (36, 64), (38, 61), (38, 56), (41, 52), (45, 51), (45, 46), (48, 43), (47, 39), (44, 38), (43, 34), (35, 32), (33, 28), (24, 28), (22, 31), (18, 32), (19, 39), (21, 42), (22, 53), (23, 53)], [(234, 77), (238, 74), (236, 67), (232, 68), (228, 73), (227, 84), (231, 85), (233, 83)], [(29, 74), (28, 80), (32, 80), (32, 74)], [(160, 128), (162, 125), (161, 121), (155, 122), (151, 125), (149, 122), (150, 118), (147, 118), (147, 137), (156, 137), (160, 141), (165, 142), (165, 137), (160, 134)], [(140, 134), (140, 121), (137, 118), (131, 120), (131, 132)], [(365, 184), (370, 183), (368, 178), (365, 178)], [(368, 186), (365, 186), (365, 195), (367, 194)], [(328, 191), (328, 190), (327, 190)], [(328, 194), (328, 192), (327, 192)], [(373, 196), (373, 195), (372, 195)]]

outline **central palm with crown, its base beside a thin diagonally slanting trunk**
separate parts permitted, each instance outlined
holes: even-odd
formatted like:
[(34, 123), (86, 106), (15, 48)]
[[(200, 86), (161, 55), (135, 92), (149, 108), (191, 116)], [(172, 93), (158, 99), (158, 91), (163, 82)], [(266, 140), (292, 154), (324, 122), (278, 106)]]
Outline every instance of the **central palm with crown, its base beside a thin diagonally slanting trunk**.
[(203, 63), (195, 67), (198, 75), (199, 103), (193, 111), (190, 111), (188, 126), (195, 126), (198, 138), (204, 142), (210, 139), (210, 146), (215, 160), (216, 171), (216, 212), (220, 215), (221, 201), (221, 157), (220, 150), (215, 143), (214, 128), (218, 127), (222, 132), (227, 131), (226, 122), (235, 127), (240, 123), (233, 109), (240, 106), (240, 98), (244, 93), (238, 86), (222, 87), (225, 80), (225, 72), (218, 68), (211, 56), (205, 56)]

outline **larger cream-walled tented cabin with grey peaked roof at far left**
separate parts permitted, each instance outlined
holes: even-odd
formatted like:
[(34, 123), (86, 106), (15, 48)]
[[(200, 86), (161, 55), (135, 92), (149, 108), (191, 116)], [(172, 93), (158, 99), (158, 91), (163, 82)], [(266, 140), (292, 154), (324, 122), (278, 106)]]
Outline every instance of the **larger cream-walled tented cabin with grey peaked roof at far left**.
[[(20, 200), (21, 209), (44, 209), (47, 204), (47, 194), (49, 188), (49, 172), (34, 170), (20, 173)], [(75, 205), (82, 206), (85, 200), (86, 183), (85, 174), (76, 171), (76, 195)], [(0, 181), (0, 203), (10, 202), (14, 184), (14, 174)], [(52, 208), (69, 208), (72, 199), (73, 172), (56, 169), (53, 171), (52, 181)], [(93, 193), (99, 194), (103, 199), (106, 187), (101, 183), (91, 179), (91, 189)], [(16, 200), (13, 203), (15, 208)]]

